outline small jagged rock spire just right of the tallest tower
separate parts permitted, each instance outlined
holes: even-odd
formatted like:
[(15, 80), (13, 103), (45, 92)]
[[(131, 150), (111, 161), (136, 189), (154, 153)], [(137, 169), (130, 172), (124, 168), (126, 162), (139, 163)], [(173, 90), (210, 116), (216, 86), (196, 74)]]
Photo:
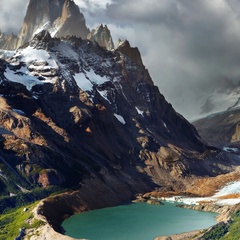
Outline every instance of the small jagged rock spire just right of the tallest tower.
[(97, 42), (99, 46), (106, 48), (107, 50), (114, 49), (111, 33), (107, 25), (100, 24), (96, 29), (93, 29), (87, 37), (93, 42)]

